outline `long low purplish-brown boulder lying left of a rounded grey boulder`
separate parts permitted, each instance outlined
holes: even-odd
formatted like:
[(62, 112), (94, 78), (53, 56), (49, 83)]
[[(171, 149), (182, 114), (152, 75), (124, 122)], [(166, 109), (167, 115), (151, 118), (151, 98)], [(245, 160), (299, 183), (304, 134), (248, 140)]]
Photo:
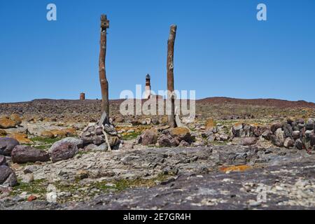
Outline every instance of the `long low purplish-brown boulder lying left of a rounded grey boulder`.
[(50, 160), (49, 153), (46, 151), (31, 148), (31, 146), (15, 146), (11, 153), (12, 161), (15, 163), (27, 162), (47, 162)]

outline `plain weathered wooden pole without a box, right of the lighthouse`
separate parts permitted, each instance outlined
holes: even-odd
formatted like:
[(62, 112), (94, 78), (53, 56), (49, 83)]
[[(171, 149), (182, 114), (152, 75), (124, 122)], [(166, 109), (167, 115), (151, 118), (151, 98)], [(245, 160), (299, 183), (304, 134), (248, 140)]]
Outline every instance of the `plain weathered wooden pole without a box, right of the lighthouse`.
[(174, 43), (176, 38), (176, 25), (172, 25), (167, 41), (167, 92), (168, 100), (171, 99), (171, 114), (168, 116), (169, 127), (176, 127), (175, 97), (174, 97)]

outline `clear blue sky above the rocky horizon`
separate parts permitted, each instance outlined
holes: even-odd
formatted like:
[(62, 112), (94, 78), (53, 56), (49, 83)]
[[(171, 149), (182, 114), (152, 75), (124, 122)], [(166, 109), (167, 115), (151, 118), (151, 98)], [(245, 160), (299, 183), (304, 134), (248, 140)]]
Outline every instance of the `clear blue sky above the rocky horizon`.
[[(48, 3), (57, 21), (46, 20)], [(256, 20), (258, 3), (267, 21)], [(108, 15), (111, 99), (151, 74), (165, 90), (169, 26), (178, 26), (177, 90), (197, 99), (276, 98), (315, 102), (315, 1), (1, 0), (0, 102), (100, 97), (99, 17)]]

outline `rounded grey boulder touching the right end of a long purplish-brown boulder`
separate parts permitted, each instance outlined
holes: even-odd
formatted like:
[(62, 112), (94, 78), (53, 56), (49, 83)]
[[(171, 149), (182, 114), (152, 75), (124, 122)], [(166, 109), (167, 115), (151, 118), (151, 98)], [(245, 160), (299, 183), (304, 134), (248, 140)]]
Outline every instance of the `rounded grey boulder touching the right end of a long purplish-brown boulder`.
[(52, 162), (58, 162), (61, 160), (68, 160), (73, 158), (74, 155), (78, 152), (78, 146), (70, 142), (62, 142), (50, 148), (50, 157)]

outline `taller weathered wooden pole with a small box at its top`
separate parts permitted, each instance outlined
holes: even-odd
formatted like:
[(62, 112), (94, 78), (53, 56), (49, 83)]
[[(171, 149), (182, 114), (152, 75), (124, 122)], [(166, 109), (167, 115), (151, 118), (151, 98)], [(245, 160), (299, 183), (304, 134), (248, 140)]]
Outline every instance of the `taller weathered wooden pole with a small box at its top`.
[(109, 20), (106, 15), (101, 15), (101, 41), (99, 50), (99, 82), (102, 90), (102, 112), (109, 116), (109, 83), (106, 79), (106, 29), (109, 28)]

